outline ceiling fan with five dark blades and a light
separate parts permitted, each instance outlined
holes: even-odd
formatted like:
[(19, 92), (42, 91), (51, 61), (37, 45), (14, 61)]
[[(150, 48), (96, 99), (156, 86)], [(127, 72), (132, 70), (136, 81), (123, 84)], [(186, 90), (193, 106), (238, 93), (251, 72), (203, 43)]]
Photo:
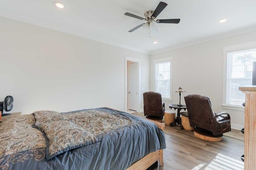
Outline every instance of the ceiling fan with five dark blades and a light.
[(154, 11), (147, 11), (145, 12), (144, 16), (145, 18), (142, 18), (140, 16), (136, 16), (134, 14), (131, 14), (129, 12), (126, 12), (124, 15), (126, 16), (130, 16), (133, 18), (137, 18), (139, 20), (144, 20), (147, 21), (146, 23), (142, 23), (140, 25), (138, 25), (137, 27), (134, 27), (133, 29), (129, 30), (129, 32), (133, 32), (136, 29), (142, 27), (143, 25), (146, 25), (146, 27), (149, 28), (149, 34), (150, 34), (150, 30), (156, 30), (156, 26), (154, 25), (154, 22), (156, 23), (179, 23), (180, 19), (165, 19), (165, 20), (155, 20), (156, 17), (162, 12), (162, 10), (164, 10), (164, 8), (167, 6), (167, 4), (165, 2), (159, 2), (158, 6), (156, 7), (156, 9)]

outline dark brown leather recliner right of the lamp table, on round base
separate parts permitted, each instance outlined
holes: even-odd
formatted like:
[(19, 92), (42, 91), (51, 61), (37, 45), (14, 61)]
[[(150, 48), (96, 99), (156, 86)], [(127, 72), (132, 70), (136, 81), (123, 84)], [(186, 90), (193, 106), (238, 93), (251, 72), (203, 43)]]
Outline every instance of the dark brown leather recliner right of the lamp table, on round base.
[(227, 112), (214, 113), (208, 97), (193, 94), (184, 99), (192, 127), (207, 130), (214, 136), (231, 131), (230, 115)]

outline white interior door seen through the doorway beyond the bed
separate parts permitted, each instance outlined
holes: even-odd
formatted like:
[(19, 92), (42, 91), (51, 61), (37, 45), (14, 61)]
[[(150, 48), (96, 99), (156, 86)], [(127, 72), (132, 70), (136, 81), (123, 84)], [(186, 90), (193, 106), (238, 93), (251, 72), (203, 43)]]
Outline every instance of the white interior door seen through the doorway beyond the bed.
[(139, 75), (138, 63), (127, 64), (127, 109), (137, 111)]

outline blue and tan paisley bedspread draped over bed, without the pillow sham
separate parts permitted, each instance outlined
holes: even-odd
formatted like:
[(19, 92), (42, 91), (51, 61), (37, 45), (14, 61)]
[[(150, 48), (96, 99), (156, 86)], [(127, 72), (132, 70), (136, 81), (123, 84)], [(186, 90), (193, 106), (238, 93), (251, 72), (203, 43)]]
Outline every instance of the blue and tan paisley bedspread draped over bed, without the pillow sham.
[[(1, 168), (14, 170), (124, 170), (150, 152), (166, 148), (164, 133), (161, 129), (158, 129), (154, 123), (122, 111), (109, 108), (95, 108), (62, 114), (72, 117), (72, 114), (89, 114), (90, 111), (94, 111), (95, 113), (100, 111), (111, 115), (110, 118), (112, 121), (105, 121), (104, 123), (109, 122), (112, 126), (104, 125), (102, 126), (104, 129), (100, 129), (101, 125), (98, 122), (98, 117), (91, 116), (90, 121), (88, 121), (90, 122), (90, 126), (97, 126), (90, 128), (98, 128), (104, 131), (104, 133), (98, 133), (100, 134), (98, 135), (100, 141), (57, 154), (48, 161), (46, 160), (45, 154), (46, 141), (44, 135), (40, 134), (41, 132), (36, 128), (31, 127), (31, 129), (28, 129), (28, 127), (34, 123), (34, 120), (28, 121), (26, 116), (30, 116), (30, 119), (32, 119), (31, 115), (22, 115), (25, 117), (25, 119), (23, 118), (23, 122), (18, 118), (12, 119), (12, 121), (8, 120), (9, 122), (7, 120), (3, 121), (0, 123), (0, 145), (1, 148), (2, 145), (8, 145), (8, 147), (4, 147), (6, 150), (0, 150), (0, 170)], [(94, 120), (94, 118), (96, 118), (96, 120)], [(107, 119), (106, 116), (104, 119)], [(124, 127), (116, 129), (114, 127), (120, 125), (118, 124), (118, 119), (120, 121), (123, 121), (122, 119), (128, 120), (130, 123), (126, 122), (124, 123)], [(14, 121), (17, 122), (11, 125), (11, 122)], [(77, 119), (76, 123), (79, 124), (79, 122), (84, 121)], [(22, 134), (14, 134), (14, 132), (25, 133), (23, 130), (14, 130), (16, 128), (19, 129), (19, 123), (23, 123), (24, 127), (27, 126), (27, 133), (30, 131), (30, 134), (34, 134), (34, 136), (39, 139), (33, 139), (33, 137), (30, 137), (30, 134), (23, 135), (26, 136), (26, 140), (19, 140), (23, 143), (25, 142), (24, 146), (28, 147), (28, 149), (8, 150), (11, 145), (19, 146), (18, 142), (13, 143), (13, 140), (15, 136), (22, 136)], [(7, 134), (2, 133), (4, 125), (10, 128), (10, 131), (6, 130)], [(16, 125), (19, 127), (16, 127)], [(106, 127), (109, 129), (106, 130)], [(8, 136), (8, 138), (2, 138), (1, 135), (2, 137)], [(12, 142), (10, 140), (12, 140)], [(28, 141), (27, 145), (26, 141)], [(37, 144), (35, 145), (35, 143)], [(37, 145), (38, 147), (36, 147)]]

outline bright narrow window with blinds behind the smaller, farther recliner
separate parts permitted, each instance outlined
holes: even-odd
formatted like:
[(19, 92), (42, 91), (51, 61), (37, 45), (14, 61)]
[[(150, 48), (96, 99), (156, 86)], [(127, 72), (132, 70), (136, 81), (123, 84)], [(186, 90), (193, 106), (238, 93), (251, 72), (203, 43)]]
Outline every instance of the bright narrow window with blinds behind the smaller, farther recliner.
[(162, 98), (170, 99), (170, 67), (171, 62), (156, 64), (156, 92), (160, 93)]

